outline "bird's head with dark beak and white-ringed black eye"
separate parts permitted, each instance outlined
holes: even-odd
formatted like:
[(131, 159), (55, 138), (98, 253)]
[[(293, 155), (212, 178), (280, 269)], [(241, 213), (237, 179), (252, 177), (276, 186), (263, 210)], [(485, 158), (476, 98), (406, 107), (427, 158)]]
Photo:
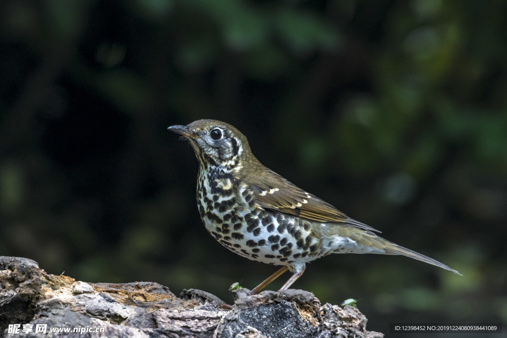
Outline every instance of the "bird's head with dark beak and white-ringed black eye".
[(246, 137), (222, 121), (197, 120), (188, 126), (171, 126), (170, 131), (190, 141), (201, 166), (237, 169), (244, 159), (253, 157)]

